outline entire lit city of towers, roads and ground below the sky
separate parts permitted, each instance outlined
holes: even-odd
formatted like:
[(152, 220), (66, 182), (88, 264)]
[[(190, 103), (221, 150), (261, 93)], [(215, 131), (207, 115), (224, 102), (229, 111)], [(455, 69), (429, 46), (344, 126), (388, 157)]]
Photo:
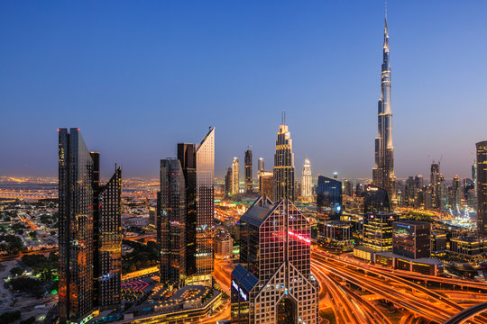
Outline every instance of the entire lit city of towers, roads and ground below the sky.
[(0, 177), (2, 322), (487, 323), (487, 141), (471, 177), (396, 177), (389, 37), (386, 14), (367, 179), (296, 172), (286, 112), (273, 161), (242, 148), (224, 177), (214, 127), (152, 180), (100, 177), (60, 128), (57, 178)]

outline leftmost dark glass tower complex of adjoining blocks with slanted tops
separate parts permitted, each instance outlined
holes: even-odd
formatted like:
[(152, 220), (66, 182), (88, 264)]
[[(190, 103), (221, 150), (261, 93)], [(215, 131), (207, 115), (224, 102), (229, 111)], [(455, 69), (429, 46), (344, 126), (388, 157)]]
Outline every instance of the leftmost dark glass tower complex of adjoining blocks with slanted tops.
[(99, 153), (59, 130), (59, 315), (80, 323), (120, 303), (121, 169), (101, 186)]

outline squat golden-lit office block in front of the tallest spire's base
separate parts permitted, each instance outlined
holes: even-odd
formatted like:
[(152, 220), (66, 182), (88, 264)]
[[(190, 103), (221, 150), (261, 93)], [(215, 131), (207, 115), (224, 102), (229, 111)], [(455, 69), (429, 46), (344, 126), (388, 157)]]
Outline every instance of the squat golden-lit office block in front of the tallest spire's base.
[(375, 251), (391, 251), (392, 223), (399, 216), (390, 212), (370, 212), (363, 215), (363, 246)]

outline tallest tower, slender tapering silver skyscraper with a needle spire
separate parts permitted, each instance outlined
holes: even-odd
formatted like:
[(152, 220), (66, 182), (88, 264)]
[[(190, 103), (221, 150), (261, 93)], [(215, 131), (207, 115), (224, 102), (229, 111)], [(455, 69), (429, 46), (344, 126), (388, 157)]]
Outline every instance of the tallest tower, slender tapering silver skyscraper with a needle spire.
[(385, 189), (391, 197), (392, 205), (397, 205), (394, 147), (392, 146), (391, 66), (389, 64), (387, 6), (381, 71), (381, 99), (378, 103), (378, 134), (375, 138), (375, 166), (372, 170), (372, 184)]

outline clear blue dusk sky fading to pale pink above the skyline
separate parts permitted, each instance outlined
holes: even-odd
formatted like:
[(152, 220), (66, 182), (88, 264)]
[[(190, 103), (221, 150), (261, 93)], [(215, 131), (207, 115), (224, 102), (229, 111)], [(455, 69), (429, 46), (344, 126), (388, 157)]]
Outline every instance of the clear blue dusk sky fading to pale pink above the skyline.
[[(79, 127), (125, 176), (159, 174), (216, 127), (216, 175), (273, 161), (288, 113), (297, 175), (371, 177), (383, 2), (3, 1), (0, 175), (57, 175)], [(487, 2), (390, 1), (396, 175), (470, 175), (487, 139)]]

